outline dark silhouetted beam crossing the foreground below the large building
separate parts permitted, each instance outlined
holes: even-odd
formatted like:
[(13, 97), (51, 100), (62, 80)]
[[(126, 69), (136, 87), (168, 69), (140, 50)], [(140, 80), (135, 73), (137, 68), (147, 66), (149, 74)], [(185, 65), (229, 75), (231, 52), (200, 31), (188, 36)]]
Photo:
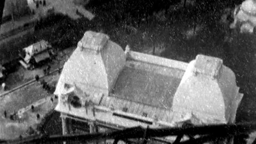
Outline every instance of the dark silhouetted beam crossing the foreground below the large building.
[[(93, 134), (69, 134), (69, 135), (38, 135), (29, 138), (0, 141), (0, 143), (46, 143), (46, 142), (62, 142), (62, 141), (83, 141), (83, 142), (99, 142), (100, 140), (114, 139), (113, 144), (119, 140), (131, 143), (130, 139), (142, 139), (142, 143), (147, 143), (149, 139), (157, 139), (157, 137), (177, 136), (173, 143), (205, 143), (216, 142), (218, 140), (229, 140), (243, 134), (249, 134), (256, 130), (256, 123), (241, 124), (220, 124), (207, 126), (185, 125), (182, 127), (143, 128), (141, 126), (132, 127), (124, 130), (118, 130), (105, 133)], [(187, 135), (188, 140), (181, 141), (181, 138)], [(195, 137), (197, 135), (197, 137)], [(254, 140), (255, 142), (255, 140)], [(171, 143), (171, 142), (168, 142)]]

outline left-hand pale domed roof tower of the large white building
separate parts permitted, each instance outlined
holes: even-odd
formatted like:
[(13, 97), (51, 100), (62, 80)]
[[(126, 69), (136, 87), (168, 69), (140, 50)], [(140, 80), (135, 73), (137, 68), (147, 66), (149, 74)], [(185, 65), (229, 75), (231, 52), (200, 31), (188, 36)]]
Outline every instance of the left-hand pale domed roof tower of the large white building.
[(106, 42), (97, 42), (102, 41), (102, 37), (107, 35), (86, 31), (63, 67), (55, 94), (65, 92), (65, 83), (75, 84), (86, 93), (108, 94), (124, 66), (125, 57), (122, 48), (108, 38)]

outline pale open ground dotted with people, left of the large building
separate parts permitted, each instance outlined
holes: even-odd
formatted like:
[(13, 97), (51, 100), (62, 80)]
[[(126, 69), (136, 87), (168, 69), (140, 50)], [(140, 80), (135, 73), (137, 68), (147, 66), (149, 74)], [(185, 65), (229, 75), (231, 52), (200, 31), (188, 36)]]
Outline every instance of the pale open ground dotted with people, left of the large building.
[[(74, 47), (70, 49), (66, 49), (63, 52), (58, 54), (58, 58), (60, 61), (54, 61), (51, 63), (52, 69), (57, 69), (62, 67), (65, 61), (69, 58), (71, 52), (73, 52)], [(53, 97), (52, 94), (47, 93), (46, 90), (43, 89), (42, 85), (39, 82), (34, 81), (34, 77), (36, 74), (42, 76), (41, 79), (44, 79), (47, 83), (56, 84), (59, 79), (59, 73), (55, 70), (55, 72), (51, 73), (50, 75), (44, 76), (41, 69), (36, 70), (25, 70), (20, 68), (17, 72), (13, 73), (7, 78), (6, 83), (10, 84), (11, 87), (10, 92), (1, 92), (0, 95), (0, 139), (13, 139), (18, 138), (19, 135), (26, 135), (26, 131), (29, 126), (32, 126), (34, 129), (37, 125), (41, 122), (38, 121), (33, 113), (26, 113), (27, 118), (24, 122), (18, 123), (16, 121), (12, 121), (10, 119), (10, 115), (13, 114), (14, 111), (17, 111), (30, 106), (32, 103), (38, 100), (46, 100), (44, 105), (40, 106), (40, 110), (37, 113), (40, 113), (42, 117), (44, 117), (47, 112), (51, 111), (55, 106), (49, 102), (49, 99)], [(23, 78), (25, 75), (27, 76), (26, 79), (17, 79), (17, 81), (12, 82), (13, 78), (23, 74)], [(27, 83), (27, 84), (26, 84)], [(12, 85), (11, 85), (12, 84)], [(22, 85), (22, 86), (21, 86)], [(15, 86), (19, 86), (15, 88)], [(12, 91), (15, 89), (14, 91)], [(56, 105), (55, 103), (54, 105)], [(31, 107), (31, 106), (30, 106)], [(7, 117), (4, 117), (4, 111), (6, 111)]]

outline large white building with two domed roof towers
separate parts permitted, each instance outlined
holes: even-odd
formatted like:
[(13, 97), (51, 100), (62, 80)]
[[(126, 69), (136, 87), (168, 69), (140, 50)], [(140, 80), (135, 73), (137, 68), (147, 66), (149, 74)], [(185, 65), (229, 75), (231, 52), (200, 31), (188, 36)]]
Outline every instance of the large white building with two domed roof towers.
[[(186, 63), (131, 51), (86, 31), (65, 63), (55, 94), (63, 134), (85, 123), (99, 127), (167, 127), (234, 123), (243, 94), (219, 58)], [(85, 126), (84, 125), (84, 126)], [(85, 126), (85, 127), (86, 127)]]

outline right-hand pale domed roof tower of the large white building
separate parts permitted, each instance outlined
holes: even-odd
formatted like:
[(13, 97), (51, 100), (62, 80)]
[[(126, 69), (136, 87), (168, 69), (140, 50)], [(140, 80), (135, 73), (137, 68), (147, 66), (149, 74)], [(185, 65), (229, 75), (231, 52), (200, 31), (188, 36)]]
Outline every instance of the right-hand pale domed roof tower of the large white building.
[(243, 97), (238, 90), (234, 72), (221, 59), (197, 55), (174, 95), (173, 110), (193, 113), (207, 123), (233, 123)]

